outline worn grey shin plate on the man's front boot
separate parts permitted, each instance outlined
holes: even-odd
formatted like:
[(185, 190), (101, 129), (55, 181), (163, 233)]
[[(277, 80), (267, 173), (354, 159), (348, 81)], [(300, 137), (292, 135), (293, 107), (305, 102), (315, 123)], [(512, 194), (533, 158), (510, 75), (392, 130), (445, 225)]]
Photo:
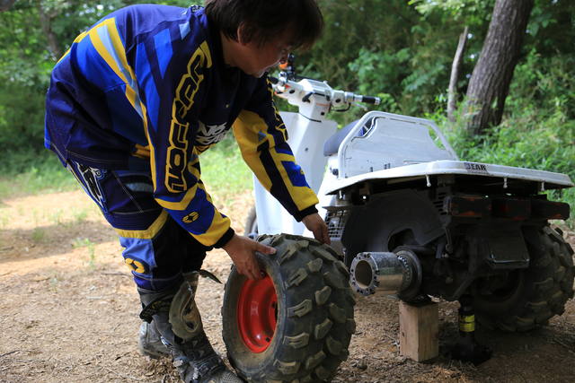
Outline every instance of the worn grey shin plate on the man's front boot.
[(170, 305), (169, 318), (173, 334), (184, 341), (203, 331), (198, 306), (194, 300), (198, 288), (198, 277), (198, 272), (184, 274), (184, 281), (174, 294)]

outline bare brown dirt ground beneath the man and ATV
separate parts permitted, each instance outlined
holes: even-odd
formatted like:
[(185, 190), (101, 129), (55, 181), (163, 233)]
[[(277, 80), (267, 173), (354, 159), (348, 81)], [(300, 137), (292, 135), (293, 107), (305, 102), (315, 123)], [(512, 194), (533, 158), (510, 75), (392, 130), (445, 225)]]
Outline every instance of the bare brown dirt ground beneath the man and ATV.
[[(63, 202), (66, 201), (66, 204)], [(228, 198), (224, 212), (242, 231), (251, 196)], [(575, 242), (575, 232), (566, 234)], [(173, 382), (169, 361), (136, 351), (139, 303), (114, 231), (83, 192), (0, 202), (0, 382)], [(225, 280), (221, 250), (205, 267)], [(219, 309), (223, 285), (200, 281), (199, 308), (225, 354)], [(528, 334), (479, 329), (493, 350), (480, 366), (450, 361), (457, 305), (439, 304), (440, 356), (425, 363), (399, 353), (398, 302), (358, 297), (357, 333), (336, 382), (572, 382), (575, 304), (549, 326)]]

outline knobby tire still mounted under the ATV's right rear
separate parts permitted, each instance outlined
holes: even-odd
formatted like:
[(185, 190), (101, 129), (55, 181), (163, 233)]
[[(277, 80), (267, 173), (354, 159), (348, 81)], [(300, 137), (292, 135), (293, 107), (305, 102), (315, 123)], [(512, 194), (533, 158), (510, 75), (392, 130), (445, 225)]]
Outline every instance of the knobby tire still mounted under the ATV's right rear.
[(548, 226), (525, 236), (529, 267), (508, 274), (489, 294), (474, 294), (475, 314), (485, 326), (529, 331), (561, 315), (573, 297), (573, 250)]

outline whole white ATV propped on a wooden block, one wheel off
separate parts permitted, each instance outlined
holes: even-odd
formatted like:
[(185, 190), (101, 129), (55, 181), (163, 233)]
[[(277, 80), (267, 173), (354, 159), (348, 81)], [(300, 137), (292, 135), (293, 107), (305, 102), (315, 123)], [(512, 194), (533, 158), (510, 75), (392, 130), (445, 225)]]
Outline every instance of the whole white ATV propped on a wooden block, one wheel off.
[[(459, 161), (423, 118), (370, 111), (336, 133), (330, 109), (376, 99), (286, 76), (275, 90), (299, 108), (281, 112), (288, 144), (356, 292), (472, 295), (478, 318), (507, 330), (562, 313), (573, 251), (548, 220), (570, 209), (542, 192), (573, 187), (567, 175)], [(311, 237), (257, 180), (254, 190), (257, 221), (247, 231)]]

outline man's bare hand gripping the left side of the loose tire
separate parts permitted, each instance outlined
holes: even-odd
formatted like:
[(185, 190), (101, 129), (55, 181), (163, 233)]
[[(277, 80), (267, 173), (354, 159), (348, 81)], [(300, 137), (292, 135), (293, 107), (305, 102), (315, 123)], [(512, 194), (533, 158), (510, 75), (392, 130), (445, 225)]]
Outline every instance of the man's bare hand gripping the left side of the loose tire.
[(276, 252), (275, 248), (270, 248), (260, 242), (237, 234), (234, 234), (234, 237), (226, 243), (224, 250), (232, 258), (237, 272), (253, 280), (261, 279), (260, 265), (254, 253), (259, 251), (262, 254), (270, 255)]

